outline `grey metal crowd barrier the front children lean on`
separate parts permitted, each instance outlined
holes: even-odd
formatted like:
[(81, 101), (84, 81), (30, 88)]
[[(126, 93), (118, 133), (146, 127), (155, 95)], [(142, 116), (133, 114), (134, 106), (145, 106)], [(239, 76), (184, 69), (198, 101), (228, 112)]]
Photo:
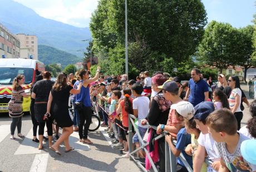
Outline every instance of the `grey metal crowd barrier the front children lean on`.
[[(141, 150), (141, 149), (144, 149), (145, 153), (146, 153), (146, 156), (147, 158), (149, 159), (150, 161), (150, 164), (152, 166), (152, 169), (157, 172), (157, 169), (156, 169), (156, 166), (153, 162), (153, 160), (151, 159), (150, 157), (150, 154), (149, 154), (149, 151), (146, 149), (146, 146), (149, 145), (149, 143), (145, 143), (145, 141), (143, 140), (143, 138), (141, 137), (141, 135), (139, 134), (139, 131), (138, 129), (136, 128), (136, 125), (134, 123), (134, 119), (137, 119), (134, 115), (131, 115), (129, 114), (128, 115), (128, 118), (129, 118), (129, 156), (130, 156), (130, 160), (134, 160), (137, 165), (140, 166), (140, 168), (143, 170), (143, 171), (147, 171), (146, 168), (141, 164), (139, 163), (138, 161), (135, 160), (135, 157), (134, 157), (134, 153), (136, 153), (137, 151)], [(138, 120), (138, 119), (137, 119)], [(156, 130), (157, 127), (155, 126), (152, 126), (152, 125), (149, 125), (147, 124), (148, 127)], [(140, 148), (137, 148), (135, 149), (134, 151), (132, 151), (132, 148), (133, 148), (133, 145), (132, 145), (132, 127), (134, 127), (134, 130), (136, 131), (137, 135), (138, 135), (138, 138), (140, 140), (140, 143), (142, 143), (142, 145), (140, 146)], [(154, 140), (159, 140), (160, 138), (163, 138), (167, 133), (163, 133), (159, 136), (157, 136)], [(174, 140), (173, 143), (176, 145), (176, 141)], [(181, 159), (181, 161), (184, 163), (184, 165), (186, 166), (186, 169), (189, 171), (189, 172), (193, 172), (193, 169), (190, 167), (190, 165), (188, 164), (188, 161), (186, 161), (185, 159), (185, 156), (183, 155), (183, 153), (180, 153), (180, 156), (179, 158)], [(207, 165), (211, 165), (211, 161), (209, 159), (205, 159), (205, 163)], [(165, 171), (171, 171), (171, 172), (176, 172), (176, 156), (171, 152), (170, 150), (170, 147), (169, 147), (169, 144), (165, 141)]]

